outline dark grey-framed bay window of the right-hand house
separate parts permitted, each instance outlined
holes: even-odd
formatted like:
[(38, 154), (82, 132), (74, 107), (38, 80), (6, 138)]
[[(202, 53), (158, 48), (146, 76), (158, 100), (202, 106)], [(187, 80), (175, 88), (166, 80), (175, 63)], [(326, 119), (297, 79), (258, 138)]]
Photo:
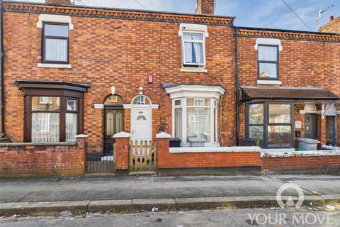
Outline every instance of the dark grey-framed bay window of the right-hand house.
[(293, 147), (293, 104), (246, 105), (246, 137), (262, 148)]

